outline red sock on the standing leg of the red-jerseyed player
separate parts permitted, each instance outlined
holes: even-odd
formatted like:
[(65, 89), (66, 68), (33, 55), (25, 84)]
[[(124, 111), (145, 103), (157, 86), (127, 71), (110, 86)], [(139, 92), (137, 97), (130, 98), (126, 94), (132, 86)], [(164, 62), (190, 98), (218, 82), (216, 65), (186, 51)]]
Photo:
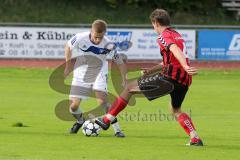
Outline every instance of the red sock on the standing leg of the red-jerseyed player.
[(186, 113), (180, 114), (178, 117), (178, 122), (188, 135), (190, 135), (190, 132), (195, 131), (192, 120)]

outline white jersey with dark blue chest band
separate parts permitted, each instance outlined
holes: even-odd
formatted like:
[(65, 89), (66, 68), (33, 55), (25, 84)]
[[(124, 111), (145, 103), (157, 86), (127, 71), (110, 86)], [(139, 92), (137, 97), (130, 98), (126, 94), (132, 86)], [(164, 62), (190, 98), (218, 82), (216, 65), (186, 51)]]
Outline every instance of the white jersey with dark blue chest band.
[(108, 74), (107, 54), (105, 47), (110, 40), (104, 36), (100, 44), (93, 44), (90, 40), (90, 32), (77, 33), (68, 41), (71, 50), (76, 49), (77, 60), (73, 77), (83, 79), (84, 82), (95, 82), (99, 74)]

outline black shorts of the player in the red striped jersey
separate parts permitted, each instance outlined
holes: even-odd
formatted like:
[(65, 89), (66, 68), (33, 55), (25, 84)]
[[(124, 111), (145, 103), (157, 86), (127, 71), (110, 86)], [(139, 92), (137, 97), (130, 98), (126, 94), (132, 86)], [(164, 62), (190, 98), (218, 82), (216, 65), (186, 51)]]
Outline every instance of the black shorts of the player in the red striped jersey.
[(173, 108), (181, 107), (188, 86), (182, 85), (173, 79), (166, 78), (159, 73), (142, 76), (138, 79), (138, 86), (148, 100), (154, 100), (170, 94)]

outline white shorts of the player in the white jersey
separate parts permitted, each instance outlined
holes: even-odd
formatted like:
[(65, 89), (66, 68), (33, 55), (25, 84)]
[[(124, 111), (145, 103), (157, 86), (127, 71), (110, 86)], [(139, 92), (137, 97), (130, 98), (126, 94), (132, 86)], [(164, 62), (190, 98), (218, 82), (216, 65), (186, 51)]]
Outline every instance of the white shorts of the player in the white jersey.
[(107, 93), (107, 73), (99, 73), (94, 82), (86, 82), (82, 77), (74, 77), (72, 80), (69, 98), (87, 99), (92, 91)]

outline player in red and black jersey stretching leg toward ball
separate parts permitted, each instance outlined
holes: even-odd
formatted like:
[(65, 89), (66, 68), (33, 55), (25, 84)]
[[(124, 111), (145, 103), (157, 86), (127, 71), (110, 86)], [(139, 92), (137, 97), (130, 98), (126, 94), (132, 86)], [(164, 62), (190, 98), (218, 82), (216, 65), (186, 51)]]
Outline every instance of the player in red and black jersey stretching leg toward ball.
[[(154, 30), (159, 34), (157, 42), (163, 62), (145, 70), (144, 75), (138, 80), (128, 83), (108, 113), (96, 119), (95, 122), (103, 129), (108, 129), (117, 114), (127, 106), (133, 94), (143, 93), (148, 100), (170, 94), (172, 114), (190, 136), (189, 145), (203, 146), (191, 118), (181, 111), (182, 102), (192, 83), (192, 75), (197, 74), (197, 70), (190, 67), (184, 40), (170, 27), (168, 12), (156, 9), (151, 13), (150, 19)], [(156, 73), (160, 69), (162, 69), (161, 73)]]

